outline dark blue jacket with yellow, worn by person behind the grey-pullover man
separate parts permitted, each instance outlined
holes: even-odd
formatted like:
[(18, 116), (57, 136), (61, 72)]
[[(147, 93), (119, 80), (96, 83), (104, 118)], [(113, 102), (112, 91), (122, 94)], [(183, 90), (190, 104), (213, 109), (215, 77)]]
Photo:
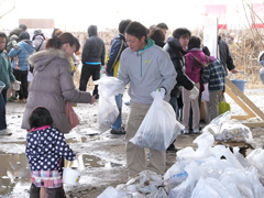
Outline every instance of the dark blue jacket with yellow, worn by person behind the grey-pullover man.
[(117, 77), (119, 69), (119, 61), (122, 52), (128, 47), (123, 34), (118, 34), (111, 42), (109, 56), (107, 62), (107, 74)]

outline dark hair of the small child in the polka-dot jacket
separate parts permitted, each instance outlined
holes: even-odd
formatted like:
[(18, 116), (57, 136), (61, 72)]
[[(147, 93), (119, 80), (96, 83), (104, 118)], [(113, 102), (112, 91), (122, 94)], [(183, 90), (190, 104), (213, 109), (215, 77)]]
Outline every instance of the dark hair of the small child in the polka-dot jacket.
[(53, 125), (53, 119), (50, 111), (44, 107), (38, 107), (33, 110), (29, 118), (31, 129), (41, 128), (44, 125)]

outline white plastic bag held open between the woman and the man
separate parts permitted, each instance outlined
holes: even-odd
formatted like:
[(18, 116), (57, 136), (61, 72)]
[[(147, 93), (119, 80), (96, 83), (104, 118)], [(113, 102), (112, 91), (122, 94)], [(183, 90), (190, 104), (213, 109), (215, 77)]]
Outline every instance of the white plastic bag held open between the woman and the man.
[(111, 125), (119, 116), (119, 110), (114, 96), (124, 92), (124, 84), (116, 77), (102, 77), (95, 81), (98, 85), (99, 105), (98, 123), (100, 125)]

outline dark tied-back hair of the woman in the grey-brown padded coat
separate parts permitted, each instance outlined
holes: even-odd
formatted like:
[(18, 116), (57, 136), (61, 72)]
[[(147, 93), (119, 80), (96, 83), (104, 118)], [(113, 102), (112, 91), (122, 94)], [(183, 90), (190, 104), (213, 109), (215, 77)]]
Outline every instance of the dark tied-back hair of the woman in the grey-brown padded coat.
[(65, 43), (69, 43), (70, 46), (75, 44), (74, 35), (69, 32), (64, 32), (58, 36), (50, 38), (46, 43), (46, 48), (61, 48)]

